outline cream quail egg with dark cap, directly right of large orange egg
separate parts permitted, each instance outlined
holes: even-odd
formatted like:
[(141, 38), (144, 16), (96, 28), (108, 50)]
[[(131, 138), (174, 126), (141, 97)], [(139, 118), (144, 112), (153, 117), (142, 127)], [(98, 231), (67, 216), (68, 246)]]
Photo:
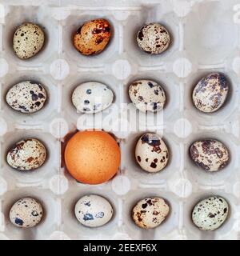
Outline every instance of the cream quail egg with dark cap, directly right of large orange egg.
[(135, 147), (135, 158), (142, 170), (155, 173), (166, 166), (169, 152), (158, 134), (143, 134)]

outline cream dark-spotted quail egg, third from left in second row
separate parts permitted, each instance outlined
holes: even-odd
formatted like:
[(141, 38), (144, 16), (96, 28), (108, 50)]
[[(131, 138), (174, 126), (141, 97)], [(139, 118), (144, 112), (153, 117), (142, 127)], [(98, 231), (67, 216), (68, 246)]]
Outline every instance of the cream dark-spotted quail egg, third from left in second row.
[(150, 80), (134, 81), (129, 88), (129, 96), (134, 106), (142, 112), (162, 110), (166, 95), (162, 86)]

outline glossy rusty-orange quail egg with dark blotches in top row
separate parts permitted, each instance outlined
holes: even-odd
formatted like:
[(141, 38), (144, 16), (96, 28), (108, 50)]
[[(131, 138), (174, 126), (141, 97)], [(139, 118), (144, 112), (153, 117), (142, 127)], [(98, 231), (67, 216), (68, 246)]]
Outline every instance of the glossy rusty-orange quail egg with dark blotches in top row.
[(100, 54), (110, 41), (110, 23), (103, 18), (84, 23), (74, 34), (74, 46), (83, 55)]

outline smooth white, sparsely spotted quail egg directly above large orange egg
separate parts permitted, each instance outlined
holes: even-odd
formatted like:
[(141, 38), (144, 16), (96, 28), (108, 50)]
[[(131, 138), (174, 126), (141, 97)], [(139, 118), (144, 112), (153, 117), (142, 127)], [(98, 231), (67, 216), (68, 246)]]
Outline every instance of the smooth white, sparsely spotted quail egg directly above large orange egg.
[(82, 113), (93, 114), (105, 110), (114, 100), (114, 93), (100, 82), (84, 82), (72, 94), (72, 102)]

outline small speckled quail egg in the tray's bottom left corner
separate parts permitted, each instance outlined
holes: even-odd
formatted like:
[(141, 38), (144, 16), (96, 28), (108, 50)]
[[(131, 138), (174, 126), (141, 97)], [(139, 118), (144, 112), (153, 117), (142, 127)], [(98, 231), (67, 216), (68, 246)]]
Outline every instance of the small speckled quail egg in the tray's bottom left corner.
[(10, 210), (10, 222), (22, 228), (36, 226), (42, 219), (42, 205), (34, 198), (22, 198)]

